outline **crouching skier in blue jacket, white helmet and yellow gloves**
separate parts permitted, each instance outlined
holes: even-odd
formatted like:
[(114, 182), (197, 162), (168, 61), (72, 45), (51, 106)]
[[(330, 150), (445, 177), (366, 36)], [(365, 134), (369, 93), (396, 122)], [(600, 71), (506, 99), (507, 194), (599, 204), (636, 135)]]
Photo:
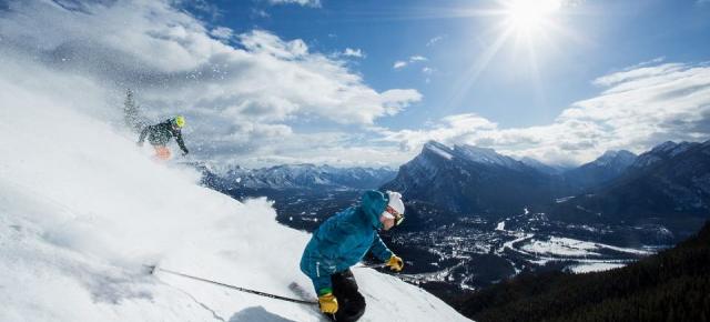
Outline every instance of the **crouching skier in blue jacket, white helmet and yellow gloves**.
[(402, 194), (367, 191), (357, 207), (351, 207), (326, 220), (313, 232), (301, 258), (301, 271), (311, 280), (318, 294), (321, 311), (334, 321), (357, 321), (365, 313), (365, 298), (357, 292), (351, 266), (368, 250), (400, 271), (404, 262), (377, 234), (404, 220)]

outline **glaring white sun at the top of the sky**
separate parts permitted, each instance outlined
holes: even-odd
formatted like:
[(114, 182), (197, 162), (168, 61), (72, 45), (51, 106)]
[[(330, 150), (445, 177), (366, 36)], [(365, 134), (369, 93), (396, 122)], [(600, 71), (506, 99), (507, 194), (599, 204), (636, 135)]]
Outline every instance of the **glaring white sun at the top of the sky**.
[(562, 7), (562, 0), (510, 0), (504, 6), (509, 28), (534, 34), (544, 31), (552, 13)]

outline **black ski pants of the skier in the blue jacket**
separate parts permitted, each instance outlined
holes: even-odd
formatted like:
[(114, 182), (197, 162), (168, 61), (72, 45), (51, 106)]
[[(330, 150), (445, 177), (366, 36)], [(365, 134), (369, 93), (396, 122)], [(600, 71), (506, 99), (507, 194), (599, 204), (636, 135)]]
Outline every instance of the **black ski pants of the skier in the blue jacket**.
[(365, 298), (357, 292), (357, 282), (351, 270), (331, 275), (333, 295), (337, 299), (337, 312), (326, 314), (333, 321), (354, 322), (365, 313)]

